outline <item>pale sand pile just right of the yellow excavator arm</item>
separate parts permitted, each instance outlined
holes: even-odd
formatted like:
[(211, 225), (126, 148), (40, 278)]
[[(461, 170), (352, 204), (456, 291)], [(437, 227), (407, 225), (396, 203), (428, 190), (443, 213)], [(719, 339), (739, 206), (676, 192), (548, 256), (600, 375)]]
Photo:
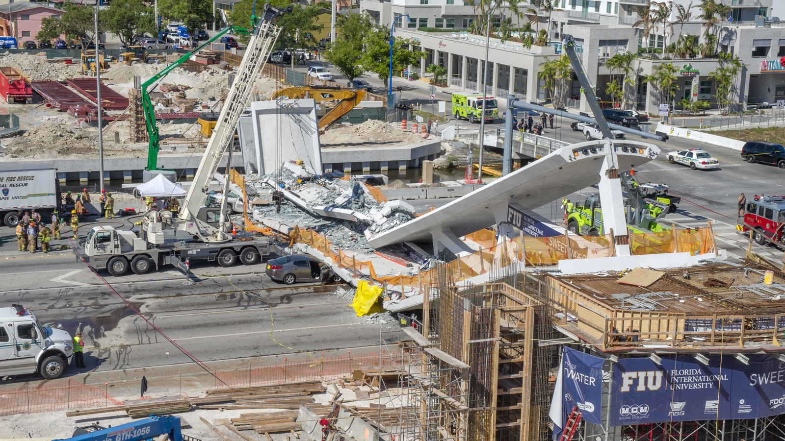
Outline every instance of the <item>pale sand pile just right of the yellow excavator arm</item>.
[(369, 119), (355, 126), (333, 126), (328, 129), (319, 141), (322, 148), (337, 147), (392, 147), (397, 145), (415, 144), (423, 138), (411, 132), (404, 132), (400, 124)]

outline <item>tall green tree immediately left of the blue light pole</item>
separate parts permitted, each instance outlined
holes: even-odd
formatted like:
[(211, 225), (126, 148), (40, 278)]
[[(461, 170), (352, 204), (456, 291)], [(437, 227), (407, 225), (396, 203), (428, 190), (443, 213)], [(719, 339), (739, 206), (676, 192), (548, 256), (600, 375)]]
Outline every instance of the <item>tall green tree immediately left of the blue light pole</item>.
[(349, 13), (338, 17), (338, 32), (327, 51), (324, 53), (336, 69), (349, 81), (363, 75), (365, 70), (360, 64), (363, 56), (365, 38), (374, 32), (374, 20), (367, 13)]

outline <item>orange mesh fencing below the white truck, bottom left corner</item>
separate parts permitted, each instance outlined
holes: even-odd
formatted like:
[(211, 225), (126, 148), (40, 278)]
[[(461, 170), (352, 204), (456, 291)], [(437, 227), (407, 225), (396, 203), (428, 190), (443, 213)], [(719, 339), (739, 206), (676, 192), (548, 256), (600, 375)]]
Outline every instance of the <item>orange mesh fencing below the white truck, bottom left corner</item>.
[(70, 378), (38, 386), (0, 389), (0, 403), (0, 416), (122, 405), (107, 392)]

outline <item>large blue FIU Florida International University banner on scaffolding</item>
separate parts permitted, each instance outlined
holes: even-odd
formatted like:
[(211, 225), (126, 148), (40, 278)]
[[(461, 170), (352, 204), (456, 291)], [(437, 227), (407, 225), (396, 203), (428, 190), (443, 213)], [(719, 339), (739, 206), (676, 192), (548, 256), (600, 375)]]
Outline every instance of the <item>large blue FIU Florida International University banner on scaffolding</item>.
[(613, 366), (611, 425), (785, 414), (785, 362), (769, 355), (620, 359)]

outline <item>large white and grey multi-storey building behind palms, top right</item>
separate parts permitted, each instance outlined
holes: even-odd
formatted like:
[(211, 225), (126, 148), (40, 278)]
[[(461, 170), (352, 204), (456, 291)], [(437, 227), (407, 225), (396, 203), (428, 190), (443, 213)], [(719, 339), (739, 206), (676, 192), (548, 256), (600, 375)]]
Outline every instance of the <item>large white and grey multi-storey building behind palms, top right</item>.
[[(785, 56), (785, 10), (780, 9), (785, 9), (785, 4), (779, 0), (723, 2), (731, 7), (731, 13), (708, 33), (716, 36), (721, 52), (738, 55), (745, 65), (739, 75), (737, 100), (742, 104), (785, 100), (785, 67), (780, 64), (780, 57)], [(532, 102), (546, 100), (544, 81), (537, 72), (546, 59), (560, 56), (559, 41), (564, 34), (575, 38), (586, 74), (597, 87), (597, 95), (608, 105), (611, 100), (606, 89), (612, 75), (604, 64), (608, 57), (638, 52), (640, 48), (661, 52), (663, 47), (677, 42), (680, 35), (697, 35), (699, 45), (707, 44), (707, 27), (699, 19), (702, 11), (697, 2), (692, 2), (688, 20), (682, 23), (674, 7), (668, 23), (654, 24), (648, 33), (640, 23), (645, 3), (646, 0), (560, 0), (559, 9), (550, 13), (540, 11), (539, 23), (535, 24), (549, 31), (552, 46), (526, 48), (518, 42), (490, 38), (488, 92), (497, 97), (516, 93), (519, 98)], [(674, 3), (684, 3), (685, 9), (690, 4), (688, 0)], [(447, 68), (451, 86), (480, 91), (485, 38), (468, 32), (475, 18), (473, 6), (463, 5), (461, 0), (360, 0), (360, 8), (384, 26), (389, 26), (397, 16), (409, 14), (411, 20), (396, 20), (395, 33), (410, 39), (411, 48), (422, 52), (421, 63), (413, 67), (414, 71), (424, 71), (431, 63), (440, 64)], [(778, 13), (783, 15), (782, 24), (776, 18)], [(680, 59), (673, 55), (665, 60), (679, 67), (675, 100), (716, 102), (716, 84), (710, 74), (718, 61), (700, 57)], [(635, 61), (634, 100), (639, 110), (658, 111), (659, 91), (645, 77), (661, 63), (660, 56), (645, 53)], [(568, 107), (587, 111), (579, 90), (579, 84), (574, 81)]]

